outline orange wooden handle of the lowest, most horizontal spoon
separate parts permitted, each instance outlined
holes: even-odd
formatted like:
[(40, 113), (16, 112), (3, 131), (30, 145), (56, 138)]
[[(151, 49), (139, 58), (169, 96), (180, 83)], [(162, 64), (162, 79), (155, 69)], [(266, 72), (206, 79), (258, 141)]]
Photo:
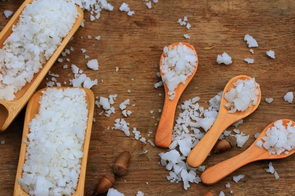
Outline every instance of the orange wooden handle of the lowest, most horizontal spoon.
[(230, 173), (239, 169), (240, 167), (248, 163), (257, 161), (257, 159), (255, 158), (256, 154), (248, 149), (230, 159), (227, 159), (205, 170), (201, 174), (202, 183), (206, 185), (215, 184)]

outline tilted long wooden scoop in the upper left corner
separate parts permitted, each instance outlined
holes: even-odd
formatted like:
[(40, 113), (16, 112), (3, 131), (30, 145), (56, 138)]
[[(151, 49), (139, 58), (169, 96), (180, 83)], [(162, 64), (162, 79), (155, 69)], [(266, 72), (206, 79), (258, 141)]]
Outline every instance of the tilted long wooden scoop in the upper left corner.
[[(0, 48), (3, 47), (3, 43), (12, 33), (12, 25), (17, 24), (20, 14), (22, 13), (26, 5), (31, 2), (32, 0), (26, 0), (0, 32)], [(70, 30), (69, 34), (62, 40), (61, 45), (56, 49), (50, 59), (48, 59), (48, 61), (42, 66), (42, 69), (38, 73), (34, 74), (34, 78), (32, 79), (32, 81), (30, 83), (27, 82), (27, 84), (23, 86), (20, 91), (15, 93), (16, 98), (14, 98), (13, 101), (0, 100), (0, 131), (4, 131), (20, 113), (20, 111), (26, 105), (29, 98), (35, 92), (50, 68), (58, 59), (62, 50), (65, 48), (67, 43), (70, 41), (70, 39), (73, 37), (73, 35), (81, 25), (84, 14), (83, 10), (79, 6), (77, 6), (77, 9), (80, 13), (80, 16), (78, 16), (76, 23), (73, 25), (73, 28)]]

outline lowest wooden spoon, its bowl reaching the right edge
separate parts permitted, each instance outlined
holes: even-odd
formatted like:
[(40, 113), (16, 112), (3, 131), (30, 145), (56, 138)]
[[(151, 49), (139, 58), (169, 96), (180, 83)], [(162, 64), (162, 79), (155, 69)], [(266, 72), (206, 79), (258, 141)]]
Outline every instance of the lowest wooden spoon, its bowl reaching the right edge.
[[(283, 125), (286, 126), (287, 123), (289, 123), (291, 120), (283, 120)], [(266, 128), (263, 130), (263, 132), (260, 134), (260, 136), (256, 139), (256, 141), (244, 152), (240, 153), (239, 155), (236, 155), (233, 158), (230, 158), (226, 161), (223, 161), (221, 163), (218, 163), (207, 170), (205, 170), (201, 175), (201, 180), (203, 184), (206, 185), (212, 185), (229, 175), (230, 173), (236, 171), (240, 167), (252, 163), (254, 161), (260, 161), (260, 160), (270, 160), (270, 159), (281, 159), (285, 158), (287, 156), (290, 156), (295, 152), (295, 149), (289, 151), (289, 154), (285, 154), (282, 152), (280, 155), (276, 154), (268, 154), (268, 151), (266, 148), (257, 147), (255, 146), (256, 142), (258, 140), (263, 141), (261, 138), (266, 136), (266, 130), (267, 128), (271, 128), (275, 122), (269, 124), (266, 126)], [(293, 126), (295, 122), (293, 122)]]

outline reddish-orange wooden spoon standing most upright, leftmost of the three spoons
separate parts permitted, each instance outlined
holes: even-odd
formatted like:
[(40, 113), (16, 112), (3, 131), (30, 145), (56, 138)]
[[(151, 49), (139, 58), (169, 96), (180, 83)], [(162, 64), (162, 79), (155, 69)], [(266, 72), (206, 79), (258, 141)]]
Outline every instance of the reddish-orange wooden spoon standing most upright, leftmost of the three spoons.
[[(195, 50), (193, 46), (191, 46), (187, 43), (183, 43), (183, 42), (181, 42), (181, 43), (183, 45), (187, 46), (188, 48)], [(179, 42), (174, 43), (170, 46), (174, 47), (178, 44), (179, 44)], [(196, 57), (197, 57), (197, 65), (195, 67), (194, 72), (185, 80), (185, 84), (182, 84), (182, 83), (178, 84), (177, 88), (175, 89), (176, 96), (173, 100), (169, 99), (169, 97), (170, 97), (170, 95), (168, 95), (169, 89), (168, 89), (167, 85), (165, 84), (165, 82), (163, 82), (164, 89), (165, 89), (165, 103), (164, 103), (161, 119), (160, 119), (158, 129), (156, 132), (156, 137), (155, 137), (155, 143), (158, 147), (167, 148), (171, 144), (173, 123), (174, 123), (174, 116), (175, 116), (175, 110), (177, 107), (177, 102), (178, 102), (182, 92), (184, 91), (186, 86), (189, 84), (189, 82), (192, 80), (192, 78), (194, 77), (194, 75), (197, 71), (198, 62), (199, 62), (197, 52), (196, 52)], [(162, 58), (164, 58), (164, 53), (162, 53), (162, 56), (160, 58), (160, 68), (162, 65)], [(161, 73), (161, 76), (164, 75), (162, 73), (161, 69), (160, 69), (160, 73)]]

